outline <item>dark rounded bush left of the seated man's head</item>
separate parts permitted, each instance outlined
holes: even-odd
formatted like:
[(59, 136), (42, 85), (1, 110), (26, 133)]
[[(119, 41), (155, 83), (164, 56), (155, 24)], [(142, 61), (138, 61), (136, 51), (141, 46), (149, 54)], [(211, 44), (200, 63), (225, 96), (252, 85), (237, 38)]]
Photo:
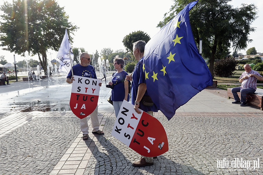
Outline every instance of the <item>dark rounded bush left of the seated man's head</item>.
[(214, 76), (229, 77), (235, 74), (237, 61), (235, 58), (224, 58), (214, 63)]

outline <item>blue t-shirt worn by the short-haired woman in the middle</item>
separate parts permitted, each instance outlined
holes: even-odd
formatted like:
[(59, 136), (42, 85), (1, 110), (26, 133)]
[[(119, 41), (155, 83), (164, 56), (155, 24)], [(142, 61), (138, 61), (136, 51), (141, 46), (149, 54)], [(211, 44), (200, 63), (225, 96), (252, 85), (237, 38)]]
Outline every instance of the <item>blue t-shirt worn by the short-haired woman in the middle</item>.
[[(122, 71), (120, 73), (114, 72), (113, 76), (111, 78), (111, 82), (114, 85), (113, 90), (111, 90), (111, 100), (112, 101), (123, 101), (125, 97), (125, 89), (124, 89), (124, 80), (126, 78), (126, 75), (128, 75), (127, 72)], [(129, 101), (129, 94), (127, 101)]]

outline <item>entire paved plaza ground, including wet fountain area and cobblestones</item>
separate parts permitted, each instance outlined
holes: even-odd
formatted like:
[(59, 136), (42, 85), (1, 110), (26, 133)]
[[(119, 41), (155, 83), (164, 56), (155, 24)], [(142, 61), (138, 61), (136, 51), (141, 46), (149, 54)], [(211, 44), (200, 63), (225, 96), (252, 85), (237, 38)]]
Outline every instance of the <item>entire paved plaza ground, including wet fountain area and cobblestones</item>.
[[(201, 91), (169, 121), (154, 113), (169, 151), (153, 166), (138, 168), (131, 162), (140, 155), (111, 135), (116, 117), (105, 82), (98, 101), (105, 134), (90, 132), (83, 141), (79, 119), (68, 108), (71, 85), (56, 81), (11, 83), (10, 91), (0, 86), (0, 174), (263, 174), (263, 111), (231, 104), (224, 90)], [(24, 107), (38, 111), (21, 112)], [(39, 110), (45, 107), (48, 112)], [(241, 158), (250, 166), (240, 167)]]

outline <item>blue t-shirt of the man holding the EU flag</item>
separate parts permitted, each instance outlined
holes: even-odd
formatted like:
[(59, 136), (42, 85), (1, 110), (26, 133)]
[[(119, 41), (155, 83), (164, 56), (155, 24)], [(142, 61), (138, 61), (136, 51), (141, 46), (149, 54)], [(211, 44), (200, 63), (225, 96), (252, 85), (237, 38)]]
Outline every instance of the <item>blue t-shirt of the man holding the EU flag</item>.
[[(132, 74), (131, 104), (133, 104), (133, 105), (134, 105), (134, 102), (135, 102), (136, 97), (137, 97), (139, 84), (141, 84), (141, 83), (146, 83), (145, 73), (144, 73), (144, 70), (143, 70), (143, 57), (136, 64), (136, 66), (134, 68), (134, 72)], [(144, 95), (148, 95), (147, 89), (146, 89)], [(148, 111), (158, 112), (158, 108), (157, 108), (157, 106), (155, 104), (153, 104), (153, 106), (145, 106), (145, 105), (142, 104), (142, 101), (140, 102), (139, 108), (141, 110), (145, 111), (145, 112), (148, 112)]]

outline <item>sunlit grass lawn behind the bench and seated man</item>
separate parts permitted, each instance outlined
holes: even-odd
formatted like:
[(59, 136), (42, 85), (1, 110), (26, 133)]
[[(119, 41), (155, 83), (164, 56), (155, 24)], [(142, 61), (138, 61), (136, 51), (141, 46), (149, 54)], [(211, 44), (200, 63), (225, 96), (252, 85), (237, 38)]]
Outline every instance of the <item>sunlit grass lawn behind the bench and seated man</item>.
[[(214, 77), (214, 81), (218, 83), (239, 83), (239, 77), (244, 71), (236, 71), (235, 74), (231, 77)], [(227, 90), (227, 88), (235, 88), (240, 85), (217, 85), (217, 88)], [(257, 88), (263, 89), (263, 85), (257, 85)]]

